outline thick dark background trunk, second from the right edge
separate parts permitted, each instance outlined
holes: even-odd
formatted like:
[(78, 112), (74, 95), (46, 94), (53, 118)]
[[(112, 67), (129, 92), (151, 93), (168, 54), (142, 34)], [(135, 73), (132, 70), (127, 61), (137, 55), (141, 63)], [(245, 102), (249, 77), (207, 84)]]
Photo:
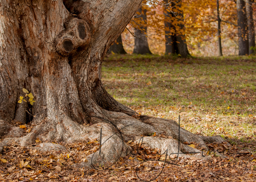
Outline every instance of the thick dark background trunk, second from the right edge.
[(249, 41), (248, 41), (245, 1), (236, 0), (236, 8), (237, 8), (237, 26), (238, 26), (238, 49), (239, 49), (238, 55), (248, 55)]

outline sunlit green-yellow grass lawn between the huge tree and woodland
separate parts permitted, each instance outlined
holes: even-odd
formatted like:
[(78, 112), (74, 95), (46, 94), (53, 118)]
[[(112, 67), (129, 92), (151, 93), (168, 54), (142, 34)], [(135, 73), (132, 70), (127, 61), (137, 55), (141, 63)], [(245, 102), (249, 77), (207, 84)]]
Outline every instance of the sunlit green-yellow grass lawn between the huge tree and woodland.
[(102, 82), (119, 102), (140, 114), (178, 120), (190, 132), (255, 137), (256, 57), (181, 59), (109, 55)]

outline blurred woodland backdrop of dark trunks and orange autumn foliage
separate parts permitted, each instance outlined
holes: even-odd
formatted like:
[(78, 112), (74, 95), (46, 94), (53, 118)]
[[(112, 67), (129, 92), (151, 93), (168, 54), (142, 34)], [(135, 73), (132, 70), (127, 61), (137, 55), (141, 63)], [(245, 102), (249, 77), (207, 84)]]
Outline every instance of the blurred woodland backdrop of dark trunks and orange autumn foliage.
[(255, 0), (144, 0), (109, 53), (255, 54), (255, 10)]

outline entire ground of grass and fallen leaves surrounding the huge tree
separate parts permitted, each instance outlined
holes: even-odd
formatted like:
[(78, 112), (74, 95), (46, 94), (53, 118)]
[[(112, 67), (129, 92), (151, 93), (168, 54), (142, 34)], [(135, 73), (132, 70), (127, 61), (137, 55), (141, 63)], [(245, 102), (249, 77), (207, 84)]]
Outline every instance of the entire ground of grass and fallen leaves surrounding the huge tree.
[(72, 165), (99, 149), (97, 140), (60, 143), (66, 152), (13, 145), (4, 147), (0, 156), (0, 181), (256, 181), (255, 60), (250, 56), (108, 55), (103, 62), (102, 82), (119, 102), (149, 116), (178, 121), (180, 115), (180, 126), (188, 131), (225, 138), (230, 145), (207, 144), (209, 161), (165, 158), (128, 141), (131, 154), (87, 169)]

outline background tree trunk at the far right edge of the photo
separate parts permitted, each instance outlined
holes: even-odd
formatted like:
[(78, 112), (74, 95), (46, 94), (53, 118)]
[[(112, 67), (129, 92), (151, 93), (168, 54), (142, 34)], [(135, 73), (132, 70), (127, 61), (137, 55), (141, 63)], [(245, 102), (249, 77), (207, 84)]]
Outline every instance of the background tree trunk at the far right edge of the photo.
[(255, 54), (255, 32), (252, 13), (252, 3), (254, 0), (246, 0), (246, 11), (248, 19), (248, 39), (249, 39), (249, 55)]

